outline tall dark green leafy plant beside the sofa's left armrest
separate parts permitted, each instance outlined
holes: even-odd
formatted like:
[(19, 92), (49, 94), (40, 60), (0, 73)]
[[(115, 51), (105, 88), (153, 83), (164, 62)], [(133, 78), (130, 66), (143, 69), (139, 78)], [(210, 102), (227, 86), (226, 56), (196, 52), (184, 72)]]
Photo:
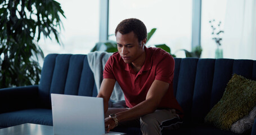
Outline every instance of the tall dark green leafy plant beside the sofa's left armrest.
[(64, 11), (54, 0), (1, 0), (0, 7), (0, 88), (38, 84), (38, 40), (60, 43)]

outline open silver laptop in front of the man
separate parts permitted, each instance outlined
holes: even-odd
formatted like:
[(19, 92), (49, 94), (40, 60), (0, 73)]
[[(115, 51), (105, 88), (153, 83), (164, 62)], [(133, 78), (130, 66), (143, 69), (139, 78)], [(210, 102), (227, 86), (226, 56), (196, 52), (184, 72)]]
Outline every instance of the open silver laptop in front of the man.
[(103, 98), (51, 94), (51, 100), (54, 134), (105, 134)]

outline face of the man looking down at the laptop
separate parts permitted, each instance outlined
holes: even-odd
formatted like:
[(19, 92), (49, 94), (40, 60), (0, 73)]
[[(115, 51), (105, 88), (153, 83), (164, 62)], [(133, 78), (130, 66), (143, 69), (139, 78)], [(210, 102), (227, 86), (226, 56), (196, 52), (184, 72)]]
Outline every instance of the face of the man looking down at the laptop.
[(134, 35), (133, 31), (128, 34), (122, 35), (119, 31), (116, 33), (116, 42), (118, 44), (118, 52), (125, 63), (130, 64), (136, 61), (144, 52), (143, 44), (138, 42), (138, 38)]

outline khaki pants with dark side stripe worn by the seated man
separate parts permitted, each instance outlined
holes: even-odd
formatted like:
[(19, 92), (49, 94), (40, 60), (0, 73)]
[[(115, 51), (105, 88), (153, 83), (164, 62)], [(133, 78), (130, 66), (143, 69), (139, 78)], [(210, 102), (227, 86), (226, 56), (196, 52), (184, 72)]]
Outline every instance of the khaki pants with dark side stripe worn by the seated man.
[[(110, 114), (116, 114), (120, 111), (125, 111), (126, 108), (109, 108), (107, 113), (105, 114), (105, 118), (108, 117)], [(150, 135), (150, 134), (161, 134), (160, 125), (162, 122), (168, 119), (173, 119), (179, 117), (176, 114), (175, 109), (162, 109), (162, 110), (155, 110), (154, 113), (146, 114), (141, 118), (137, 118), (134, 120), (129, 120), (127, 122), (119, 123), (121, 127), (140, 127), (141, 132), (143, 135)]]

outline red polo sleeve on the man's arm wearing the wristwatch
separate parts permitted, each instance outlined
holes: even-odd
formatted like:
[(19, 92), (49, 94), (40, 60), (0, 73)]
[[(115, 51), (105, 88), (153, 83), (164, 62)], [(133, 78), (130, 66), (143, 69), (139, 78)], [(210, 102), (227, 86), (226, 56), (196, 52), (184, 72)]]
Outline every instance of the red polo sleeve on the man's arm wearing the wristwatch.
[(173, 57), (165, 53), (163, 59), (161, 59), (156, 66), (155, 79), (167, 83), (172, 83), (174, 75), (174, 65), (175, 61)]

